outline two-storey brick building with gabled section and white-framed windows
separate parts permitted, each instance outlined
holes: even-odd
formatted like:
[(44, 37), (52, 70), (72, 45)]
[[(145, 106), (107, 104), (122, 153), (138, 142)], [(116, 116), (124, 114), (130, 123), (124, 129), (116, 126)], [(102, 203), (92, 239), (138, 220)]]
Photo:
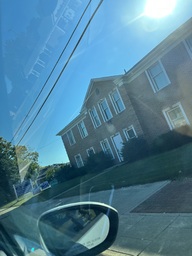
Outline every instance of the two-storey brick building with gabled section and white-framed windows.
[(192, 124), (192, 19), (126, 74), (92, 79), (80, 114), (62, 129), (72, 165), (104, 151), (121, 162), (122, 142), (148, 142)]

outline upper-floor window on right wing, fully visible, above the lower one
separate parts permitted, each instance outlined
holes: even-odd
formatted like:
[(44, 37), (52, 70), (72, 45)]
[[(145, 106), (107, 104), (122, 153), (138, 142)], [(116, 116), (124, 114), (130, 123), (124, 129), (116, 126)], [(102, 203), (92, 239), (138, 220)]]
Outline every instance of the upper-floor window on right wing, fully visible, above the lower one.
[(160, 61), (153, 64), (147, 70), (147, 75), (154, 92), (157, 92), (170, 84), (169, 78)]

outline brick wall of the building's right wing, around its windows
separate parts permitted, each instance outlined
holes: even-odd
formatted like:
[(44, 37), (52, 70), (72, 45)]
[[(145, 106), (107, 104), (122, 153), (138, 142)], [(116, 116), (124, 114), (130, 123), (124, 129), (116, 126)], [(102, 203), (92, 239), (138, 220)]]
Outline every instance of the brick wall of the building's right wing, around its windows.
[(149, 141), (170, 130), (162, 111), (177, 102), (181, 103), (192, 124), (192, 60), (183, 42), (160, 60), (171, 82), (168, 86), (154, 93), (145, 71), (125, 84), (127, 94)]

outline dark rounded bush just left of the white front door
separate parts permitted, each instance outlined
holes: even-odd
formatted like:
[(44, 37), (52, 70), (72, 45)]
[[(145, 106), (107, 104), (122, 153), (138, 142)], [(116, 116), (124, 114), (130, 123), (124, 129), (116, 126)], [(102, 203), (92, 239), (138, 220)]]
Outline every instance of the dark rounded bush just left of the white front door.
[(114, 165), (114, 160), (111, 156), (99, 152), (87, 158), (85, 169), (87, 172), (97, 172), (105, 170)]

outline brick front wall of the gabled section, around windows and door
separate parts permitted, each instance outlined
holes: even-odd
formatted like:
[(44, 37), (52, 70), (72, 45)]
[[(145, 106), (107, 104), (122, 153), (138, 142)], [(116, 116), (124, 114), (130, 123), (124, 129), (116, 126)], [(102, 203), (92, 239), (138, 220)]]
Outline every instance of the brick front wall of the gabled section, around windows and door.
[[(125, 110), (119, 114), (116, 114), (109, 97), (109, 93), (114, 88), (118, 88), (118, 91), (125, 105)], [(106, 98), (109, 108), (111, 110), (111, 113), (113, 115), (113, 118), (108, 122), (105, 122), (103, 120), (100, 109), (98, 107), (99, 101), (103, 98)], [(63, 135), (62, 137), (71, 164), (76, 166), (74, 156), (79, 153), (81, 154), (82, 159), (86, 161), (87, 159), (86, 150), (90, 147), (93, 147), (95, 152), (102, 151), (100, 141), (106, 138), (108, 139), (110, 147), (113, 151), (115, 161), (118, 163), (119, 162), (118, 155), (111, 141), (111, 136), (115, 135), (116, 133), (120, 133), (123, 142), (125, 142), (126, 138), (123, 133), (123, 129), (128, 128), (131, 125), (134, 126), (134, 129), (138, 136), (143, 135), (141, 125), (137, 119), (135, 110), (133, 109), (131, 101), (127, 95), (126, 89), (124, 88), (124, 86), (121, 86), (121, 87), (116, 86), (113, 83), (113, 80), (107, 80), (107, 81), (104, 80), (104, 81), (95, 82), (90, 94), (87, 97), (85, 106), (86, 106), (87, 112), (86, 112), (86, 117), (85, 119), (83, 119), (83, 121), (87, 128), (88, 136), (82, 139), (80, 136), (78, 127), (76, 125), (72, 127), (73, 135), (76, 141), (74, 145), (72, 146), (69, 145), (68, 138), (66, 135)], [(101, 121), (101, 126), (97, 128), (94, 128), (92, 120), (89, 115), (89, 110), (93, 106), (96, 108), (99, 119)]]

